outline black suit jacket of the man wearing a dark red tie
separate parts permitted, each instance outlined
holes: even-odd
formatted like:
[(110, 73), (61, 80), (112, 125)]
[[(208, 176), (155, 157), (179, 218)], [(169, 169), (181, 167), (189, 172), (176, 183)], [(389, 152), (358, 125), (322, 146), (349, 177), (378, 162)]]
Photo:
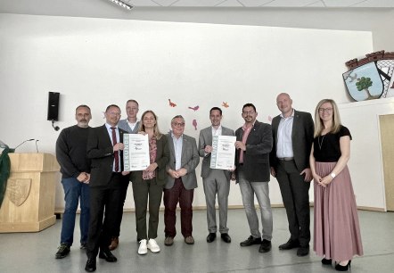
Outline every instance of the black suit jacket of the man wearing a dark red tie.
[[(123, 143), (126, 131), (119, 128), (119, 140)], [(91, 128), (87, 137), (87, 158), (92, 160), (89, 186), (108, 186), (111, 182), (113, 170), (113, 145), (105, 125)], [(120, 154), (120, 166), (123, 170), (123, 152)], [(120, 183), (119, 183), (120, 187)]]

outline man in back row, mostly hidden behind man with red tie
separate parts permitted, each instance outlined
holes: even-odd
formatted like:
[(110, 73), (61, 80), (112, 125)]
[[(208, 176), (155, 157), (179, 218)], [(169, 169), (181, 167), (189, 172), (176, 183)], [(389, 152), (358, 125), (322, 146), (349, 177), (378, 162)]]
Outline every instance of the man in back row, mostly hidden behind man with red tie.
[[(127, 119), (119, 120), (118, 128), (126, 131), (128, 134), (136, 134), (140, 126), (140, 121), (137, 120), (136, 114), (138, 113), (139, 105), (135, 100), (128, 100), (126, 103)], [(129, 176), (125, 176), (120, 181), (120, 199), (119, 199), (119, 214), (116, 222), (114, 234), (111, 236), (110, 250), (114, 250), (119, 244), (120, 225), (123, 218), (123, 206), (125, 205), (127, 188), (129, 184)]]

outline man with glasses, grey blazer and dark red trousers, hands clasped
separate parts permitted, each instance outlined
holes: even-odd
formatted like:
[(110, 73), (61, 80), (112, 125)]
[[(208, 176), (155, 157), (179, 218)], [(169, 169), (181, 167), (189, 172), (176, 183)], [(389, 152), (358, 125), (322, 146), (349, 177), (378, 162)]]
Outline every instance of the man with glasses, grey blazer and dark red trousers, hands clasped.
[(186, 136), (185, 119), (177, 115), (171, 120), (172, 131), (167, 135), (169, 161), (168, 181), (164, 186), (164, 232), (165, 245), (174, 244), (176, 236), (176, 205), (181, 208), (181, 233), (186, 244), (194, 244), (193, 239), (193, 194), (197, 187), (195, 168), (200, 157), (195, 139)]

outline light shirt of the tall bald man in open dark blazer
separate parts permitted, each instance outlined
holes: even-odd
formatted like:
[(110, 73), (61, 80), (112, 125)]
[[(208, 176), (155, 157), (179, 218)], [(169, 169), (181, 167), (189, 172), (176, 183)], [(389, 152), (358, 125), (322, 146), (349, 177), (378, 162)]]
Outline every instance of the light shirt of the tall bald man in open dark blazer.
[(283, 114), (280, 115), (281, 121), (279, 122), (278, 132), (277, 132), (277, 144), (276, 144), (276, 157), (294, 157), (294, 153), (292, 150), (292, 124), (294, 121), (294, 110), (291, 113), (290, 117), (283, 117)]

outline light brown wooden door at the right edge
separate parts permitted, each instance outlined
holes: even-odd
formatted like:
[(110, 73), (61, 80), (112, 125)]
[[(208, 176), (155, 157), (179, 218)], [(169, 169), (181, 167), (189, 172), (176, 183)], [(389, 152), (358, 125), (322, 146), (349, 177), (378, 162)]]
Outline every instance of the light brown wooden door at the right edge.
[(394, 115), (379, 116), (387, 211), (394, 211)]

